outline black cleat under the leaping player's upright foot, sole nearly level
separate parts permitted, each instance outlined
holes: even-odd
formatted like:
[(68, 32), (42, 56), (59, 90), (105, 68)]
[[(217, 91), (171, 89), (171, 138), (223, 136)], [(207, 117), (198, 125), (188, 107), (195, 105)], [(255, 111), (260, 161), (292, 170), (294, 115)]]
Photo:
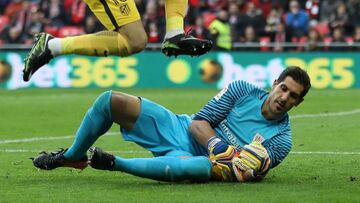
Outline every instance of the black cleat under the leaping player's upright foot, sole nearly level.
[(168, 57), (178, 55), (200, 56), (206, 54), (213, 47), (210, 40), (195, 38), (188, 34), (178, 34), (165, 39), (161, 51)]

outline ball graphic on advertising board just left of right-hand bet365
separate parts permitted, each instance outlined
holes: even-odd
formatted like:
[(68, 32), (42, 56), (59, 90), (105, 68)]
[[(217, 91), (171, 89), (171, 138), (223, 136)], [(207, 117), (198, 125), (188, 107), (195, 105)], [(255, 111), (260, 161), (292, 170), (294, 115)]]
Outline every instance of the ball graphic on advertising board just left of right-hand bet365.
[(217, 82), (223, 74), (223, 68), (216, 60), (205, 60), (200, 65), (200, 78), (205, 83)]

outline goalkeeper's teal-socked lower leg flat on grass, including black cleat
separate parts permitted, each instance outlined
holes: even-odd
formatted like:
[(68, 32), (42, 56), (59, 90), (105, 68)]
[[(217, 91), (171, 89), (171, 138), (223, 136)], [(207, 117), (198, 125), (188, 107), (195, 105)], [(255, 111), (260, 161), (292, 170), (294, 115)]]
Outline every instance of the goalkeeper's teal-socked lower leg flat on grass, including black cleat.
[(122, 171), (142, 178), (159, 181), (207, 182), (212, 164), (205, 156), (193, 157), (188, 152), (172, 151), (154, 158), (124, 159), (92, 148), (90, 166), (99, 170)]

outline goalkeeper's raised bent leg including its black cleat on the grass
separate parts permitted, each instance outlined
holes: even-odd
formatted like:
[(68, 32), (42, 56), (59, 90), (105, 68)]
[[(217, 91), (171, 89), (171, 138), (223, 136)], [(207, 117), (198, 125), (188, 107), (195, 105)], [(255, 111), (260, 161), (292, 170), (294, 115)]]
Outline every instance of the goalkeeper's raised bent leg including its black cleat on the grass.
[(130, 130), (139, 112), (138, 97), (120, 92), (104, 92), (87, 111), (71, 147), (53, 153), (42, 152), (33, 158), (33, 163), (37, 168), (46, 170), (63, 166), (83, 169), (87, 165), (87, 150), (95, 141), (106, 133), (114, 122)]

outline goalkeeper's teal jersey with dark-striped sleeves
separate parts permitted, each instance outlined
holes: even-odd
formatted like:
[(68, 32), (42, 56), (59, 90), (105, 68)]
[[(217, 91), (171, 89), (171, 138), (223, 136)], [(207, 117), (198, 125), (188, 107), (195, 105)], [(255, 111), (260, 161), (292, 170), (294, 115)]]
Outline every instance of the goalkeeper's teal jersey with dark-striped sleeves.
[(252, 142), (256, 135), (263, 137), (271, 165), (277, 166), (290, 152), (292, 146), (289, 116), (267, 120), (261, 107), (268, 92), (245, 81), (234, 81), (211, 99), (194, 117), (206, 120), (216, 135), (240, 149)]

